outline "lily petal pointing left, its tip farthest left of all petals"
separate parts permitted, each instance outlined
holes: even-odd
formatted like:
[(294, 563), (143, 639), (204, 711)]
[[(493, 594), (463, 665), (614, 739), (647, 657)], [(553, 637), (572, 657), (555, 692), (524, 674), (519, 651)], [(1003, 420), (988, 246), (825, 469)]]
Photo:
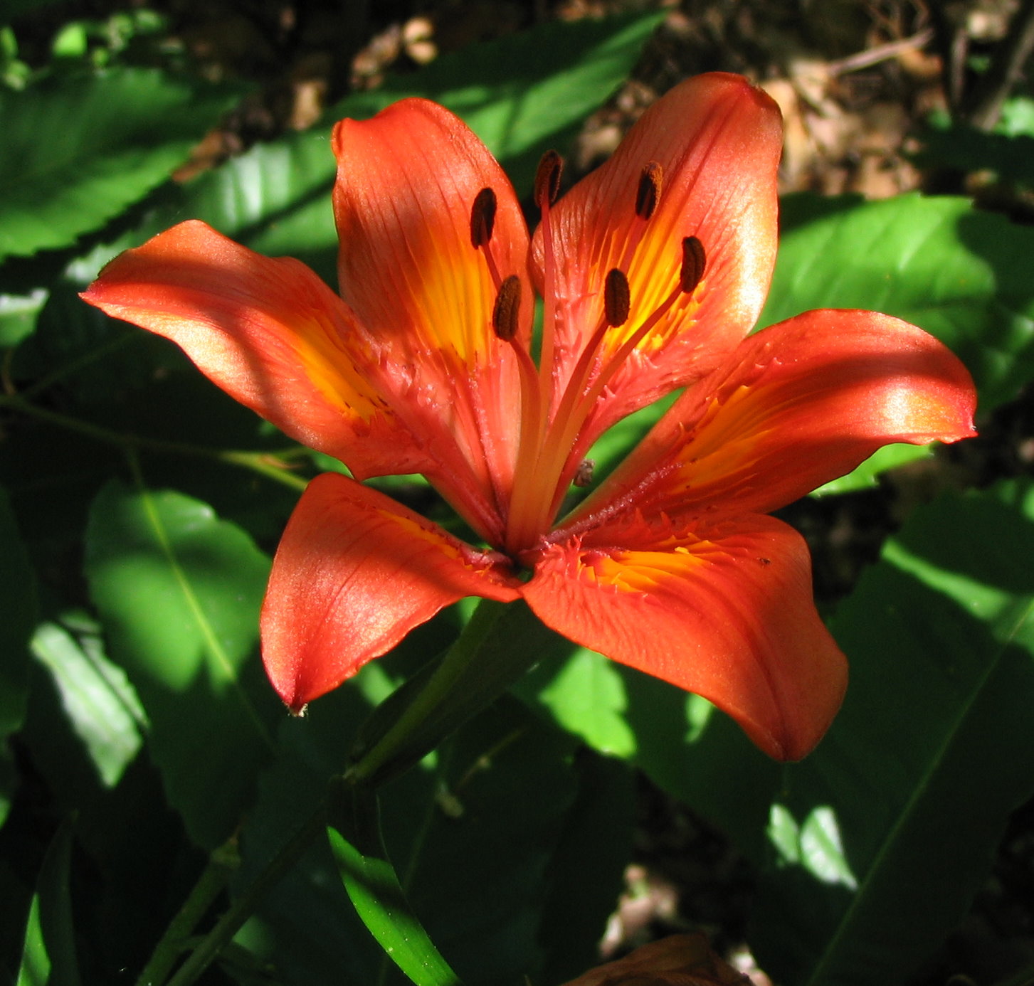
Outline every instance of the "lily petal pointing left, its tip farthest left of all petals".
[(298, 260), (183, 222), (117, 256), (82, 297), (172, 339), (236, 400), (361, 477), (432, 464), (357, 369), (354, 314)]

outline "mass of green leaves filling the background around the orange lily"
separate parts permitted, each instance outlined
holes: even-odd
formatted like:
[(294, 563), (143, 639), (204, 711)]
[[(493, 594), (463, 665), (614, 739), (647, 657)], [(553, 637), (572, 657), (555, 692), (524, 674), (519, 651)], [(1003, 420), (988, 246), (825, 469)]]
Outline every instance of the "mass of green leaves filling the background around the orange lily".
[[(1034, 140), (1022, 87), (997, 129), (950, 100), (931, 120), (915, 160), (953, 176), (954, 194), (784, 199), (762, 323), (815, 307), (914, 321), (970, 367), (990, 434), (970, 454), (978, 466), (892, 448), (788, 513), (814, 535), (838, 503), (856, 527), (866, 498), (884, 504), (870, 554), (855, 546), (832, 587), (820, 578), (852, 683), (819, 749), (776, 765), (695, 697), (540, 638), (512, 695), (387, 787), (383, 844), (349, 841), (341, 822), (344, 834), (315, 840), (252, 899), (369, 712), (469, 611), (442, 614), (287, 718), (257, 659), (257, 611), (293, 503), (328, 463), (77, 292), (188, 217), (332, 280), (329, 126), (403, 95), (461, 115), (527, 190), (542, 152), (573, 147), (660, 19), (546, 19), (424, 67), (410, 55), (409, 70), (354, 83), (311, 126), (184, 170), (248, 104), (253, 79), (209, 78), (155, 10), (19, 0), (4, 18), (0, 981), (166, 982), (181, 946), (246, 903), (202, 981), (401, 982), (349, 901), (358, 881), (386, 947), (403, 929), (415, 981), (552, 986), (599, 960), (618, 895), (636, 894), (629, 863), (663, 838), (643, 822), (659, 799), (691, 806), (748, 874), (748, 925), (710, 930), (774, 981), (964, 970), (931, 957), (986, 886), (1010, 818), (1028, 840), (1016, 866), (1034, 880), (1030, 811), (1013, 814), (1034, 794), (1034, 489), (1001, 465), (1002, 423), (1023, 418), (1034, 376), (1034, 229), (1014, 221)], [(972, 173), (1008, 186), (1011, 215), (976, 208)], [(604, 436), (600, 468), (656, 414)], [(416, 480), (385, 482), (420, 495)], [(813, 547), (821, 576), (828, 544)], [(367, 808), (338, 806), (353, 820)], [(721, 892), (738, 893), (732, 883)], [(399, 900), (404, 914), (388, 915)], [(986, 947), (987, 986), (1034, 981), (1031, 931)], [(185, 968), (174, 983), (192, 981)]]

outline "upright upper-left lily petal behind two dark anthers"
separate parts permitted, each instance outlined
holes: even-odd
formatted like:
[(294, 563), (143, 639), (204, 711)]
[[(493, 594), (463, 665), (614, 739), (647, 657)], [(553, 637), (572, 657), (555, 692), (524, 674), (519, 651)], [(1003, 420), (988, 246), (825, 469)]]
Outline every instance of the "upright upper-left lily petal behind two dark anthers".
[[(492, 329), (498, 285), (472, 243), (470, 217), (479, 192), (491, 188), (489, 251), (498, 277), (517, 275), (523, 285), (518, 335), (526, 346), (528, 233), (513, 186), (465, 124), (424, 99), (342, 120), (333, 148), (341, 296), (381, 341), (382, 387), (395, 394), (394, 406), (419, 407), (413, 427), (428, 444), (435, 435), (448, 436), (443, 450), (459, 444), (499, 513), (513, 477), (519, 383), (511, 347)], [(448, 468), (443, 461), (438, 471)], [(443, 492), (477, 523), (456, 496), (463, 484), (453, 486)]]

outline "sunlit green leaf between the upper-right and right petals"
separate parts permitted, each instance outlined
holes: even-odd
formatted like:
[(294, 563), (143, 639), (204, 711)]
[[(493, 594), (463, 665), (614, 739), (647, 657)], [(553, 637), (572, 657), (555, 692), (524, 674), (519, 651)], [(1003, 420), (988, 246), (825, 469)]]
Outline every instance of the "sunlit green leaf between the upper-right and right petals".
[(1016, 257), (1034, 228), (965, 198), (784, 199), (761, 325), (812, 308), (868, 308), (933, 333), (973, 374), (983, 411), (1034, 377), (1034, 281)]

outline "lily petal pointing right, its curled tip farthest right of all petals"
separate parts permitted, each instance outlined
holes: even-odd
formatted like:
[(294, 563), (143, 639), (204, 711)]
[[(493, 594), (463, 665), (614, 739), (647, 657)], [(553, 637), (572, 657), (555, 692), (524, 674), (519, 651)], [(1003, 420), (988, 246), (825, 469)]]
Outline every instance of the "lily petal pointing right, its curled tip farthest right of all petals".
[(746, 339), (729, 363), (672, 405), (579, 517), (629, 503), (679, 517), (768, 513), (889, 442), (976, 433), (969, 371), (889, 315), (805, 312)]

